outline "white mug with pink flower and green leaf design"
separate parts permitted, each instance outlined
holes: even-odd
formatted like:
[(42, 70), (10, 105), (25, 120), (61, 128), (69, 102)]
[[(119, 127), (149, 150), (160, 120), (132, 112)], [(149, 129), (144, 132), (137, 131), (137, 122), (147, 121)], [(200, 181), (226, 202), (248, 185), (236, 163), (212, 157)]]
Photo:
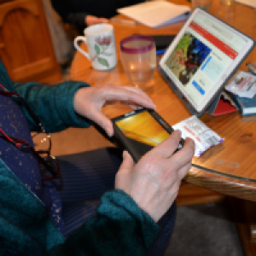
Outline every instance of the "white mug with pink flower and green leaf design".
[[(79, 41), (84, 41), (88, 52), (79, 47)], [(110, 24), (88, 26), (84, 29), (84, 36), (76, 37), (73, 44), (96, 70), (112, 69), (117, 64), (113, 26)]]

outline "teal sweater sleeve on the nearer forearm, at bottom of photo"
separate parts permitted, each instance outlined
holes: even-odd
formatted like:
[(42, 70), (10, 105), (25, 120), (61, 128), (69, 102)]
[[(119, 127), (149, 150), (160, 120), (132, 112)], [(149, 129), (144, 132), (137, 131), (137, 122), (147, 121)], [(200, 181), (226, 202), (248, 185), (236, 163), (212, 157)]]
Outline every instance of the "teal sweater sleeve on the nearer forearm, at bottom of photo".
[(158, 232), (154, 220), (116, 189), (102, 196), (96, 218), (90, 218), (49, 255), (143, 255)]

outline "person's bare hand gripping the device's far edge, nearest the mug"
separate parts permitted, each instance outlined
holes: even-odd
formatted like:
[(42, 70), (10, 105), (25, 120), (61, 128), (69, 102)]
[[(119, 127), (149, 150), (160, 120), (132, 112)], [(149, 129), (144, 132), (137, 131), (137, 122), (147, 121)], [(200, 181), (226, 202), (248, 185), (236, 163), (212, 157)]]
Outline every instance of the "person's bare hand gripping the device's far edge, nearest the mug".
[(130, 105), (134, 109), (138, 107), (155, 109), (154, 103), (142, 90), (113, 84), (84, 87), (77, 90), (74, 95), (73, 107), (77, 113), (100, 125), (108, 133), (108, 136), (112, 137), (113, 124), (102, 113), (102, 107), (116, 102)]

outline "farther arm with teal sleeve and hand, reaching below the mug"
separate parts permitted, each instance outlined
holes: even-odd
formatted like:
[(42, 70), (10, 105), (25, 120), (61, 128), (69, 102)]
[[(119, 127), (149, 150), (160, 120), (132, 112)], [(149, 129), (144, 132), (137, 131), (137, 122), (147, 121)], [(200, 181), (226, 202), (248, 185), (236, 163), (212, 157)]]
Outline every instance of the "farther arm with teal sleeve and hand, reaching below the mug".
[[(27, 83), (15, 84), (15, 90), (24, 97), (48, 132), (61, 131), (69, 126), (88, 127), (92, 121), (111, 137), (112, 122), (102, 113), (102, 107), (108, 103), (155, 108), (142, 90), (113, 84), (89, 87), (89, 84), (74, 81), (55, 85)], [(26, 114), (31, 130), (37, 130), (26, 108), (22, 104), (20, 107)]]

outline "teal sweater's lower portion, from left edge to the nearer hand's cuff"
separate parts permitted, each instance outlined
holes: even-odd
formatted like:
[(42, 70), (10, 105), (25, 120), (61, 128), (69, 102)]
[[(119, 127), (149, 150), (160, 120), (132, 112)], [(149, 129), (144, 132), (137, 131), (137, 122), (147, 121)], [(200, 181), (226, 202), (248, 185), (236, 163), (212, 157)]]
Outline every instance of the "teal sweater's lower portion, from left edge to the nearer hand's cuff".
[(47, 208), (1, 158), (0, 171), (1, 255), (143, 255), (158, 234), (158, 224), (115, 189), (102, 196), (96, 217), (65, 240)]

